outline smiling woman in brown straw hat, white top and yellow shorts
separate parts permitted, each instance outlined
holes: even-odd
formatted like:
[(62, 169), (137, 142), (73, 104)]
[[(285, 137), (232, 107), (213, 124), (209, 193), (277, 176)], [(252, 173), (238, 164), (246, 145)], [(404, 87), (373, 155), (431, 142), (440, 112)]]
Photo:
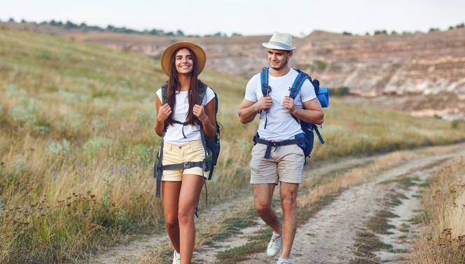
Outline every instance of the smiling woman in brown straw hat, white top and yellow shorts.
[[(197, 79), (205, 66), (205, 53), (200, 46), (176, 42), (162, 53), (162, 70), (169, 77), (165, 104), (162, 89), (157, 91), (155, 132), (163, 137), (162, 165), (205, 158), (200, 129), (205, 137), (216, 132), (215, 96), (207, 88), (202, 102), (198, 92), (203, 83)], [(165, 225), (174, 246), (173, 263), (188, 264), (195, 242), (194, 211), (204, 183), (202, 167), (164, 170), (161, 179)], [(205, 174), (207, 175), (207, 174)]]

